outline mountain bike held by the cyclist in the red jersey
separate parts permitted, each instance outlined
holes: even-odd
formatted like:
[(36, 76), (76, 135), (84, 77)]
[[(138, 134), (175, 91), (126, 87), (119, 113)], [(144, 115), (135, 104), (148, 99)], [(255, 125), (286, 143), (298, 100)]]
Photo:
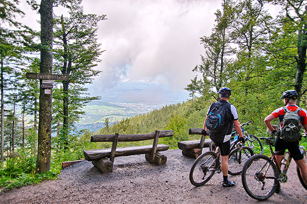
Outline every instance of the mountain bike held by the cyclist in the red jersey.
[[(265, 140), (269, 145), (272, 156), (252, 156), (243, 167), (242, 184), (249, 196), (257, 200), (266, 200), (271, 197), (276, 190), (279, 190), (280, 183), (286, 183), (288, 181), (287, 171), (292, 157), (287, 151), (281, 161), (281, 168), (279, 168), (275, 158), (278, 152), (274, 152), (271, 146), (271, 140), (274, 139), (274, 137), (260, 137), (260, 139)], [(303, 146), (301, 146), (301, 148), (304, 149)], [(307, 162), (307, 153), (305, 150), (304, 159)], [(301, 184), (307, 190), (307, 185), (302, 180), (299, 169), (297, 170), (297, 175)]]

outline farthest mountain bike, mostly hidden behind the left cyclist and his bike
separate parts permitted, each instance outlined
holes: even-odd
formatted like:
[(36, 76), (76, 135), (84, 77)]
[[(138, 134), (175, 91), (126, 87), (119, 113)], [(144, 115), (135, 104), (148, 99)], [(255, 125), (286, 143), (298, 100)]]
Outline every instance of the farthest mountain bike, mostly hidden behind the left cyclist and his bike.
[[(250, 123), (251, 123), (251, 121), (248, 121), (248, 122), (245, 122), (245, 123), (243, 123), (241, 125), (242, 134), (243, 134), (243, 137), (245, 139), (245, 143), (244, 144), (245, 144), (245, 146), (250, 147), (253, 150), (255, 155), (256, 154), (261, 154), (262, 155), (264, 153), (264, 147), (262, 146), (262, 143), (259, 140), (259, 138), (257, 138), (254, 135), (248, 134), (248, 132), (243, 129), (244, 125), (249, 125)], [(232, 151), (234, 148), (236, 148), (237, 144), (239, 142), (238, 134), (237, 134), (236, 131), (231, 133), (231, 138), (234, 138), (234, 139), (230, 143), (230, 145), (231, 145), (230, 151)], [(215, 150), (215, 145), (214, 145), (213, 141), (211, 141), (210, 144), (209, 144), (209, 150), (210, 151), (214, 151)]]

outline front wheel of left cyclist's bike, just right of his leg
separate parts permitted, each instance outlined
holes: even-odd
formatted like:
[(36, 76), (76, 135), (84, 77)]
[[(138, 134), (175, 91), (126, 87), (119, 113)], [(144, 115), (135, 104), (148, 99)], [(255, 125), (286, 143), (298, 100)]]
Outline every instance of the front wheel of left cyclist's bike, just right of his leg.
[(233, 149), (228, 158), (228, 173), (230, 175), (238, 175), (242, 173), (244, 164), (253, 155), (253, 150), (247, 146)]

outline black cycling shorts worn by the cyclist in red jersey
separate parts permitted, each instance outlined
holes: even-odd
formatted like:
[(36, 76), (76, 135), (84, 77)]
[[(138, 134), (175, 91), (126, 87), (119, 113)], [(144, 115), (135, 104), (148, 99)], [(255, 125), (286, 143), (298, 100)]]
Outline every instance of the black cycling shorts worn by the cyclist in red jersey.
[(275, 138), (275, 151), (280, 151), (277, 155), (283, 155), (286, 149), (289, 150), (291, 157), (294, 160), (304, 159), (303, 151), (300, 148), (299, 141), (286, 142), (280, 137)]

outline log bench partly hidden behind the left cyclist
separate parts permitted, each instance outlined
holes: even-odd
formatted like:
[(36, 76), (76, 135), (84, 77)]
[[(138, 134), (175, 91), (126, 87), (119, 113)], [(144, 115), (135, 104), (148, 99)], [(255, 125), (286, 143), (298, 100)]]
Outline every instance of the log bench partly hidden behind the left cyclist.
[[(189, 135), (202, 135), (202, 128), (190, 128)], [(201, 137), (200, 140), (189, 140), (178, 142), (178, 148), (182, 150), (182, 155), (190, 158), (198, 158), (204, 147), (209, 147), (211, 140)]]

